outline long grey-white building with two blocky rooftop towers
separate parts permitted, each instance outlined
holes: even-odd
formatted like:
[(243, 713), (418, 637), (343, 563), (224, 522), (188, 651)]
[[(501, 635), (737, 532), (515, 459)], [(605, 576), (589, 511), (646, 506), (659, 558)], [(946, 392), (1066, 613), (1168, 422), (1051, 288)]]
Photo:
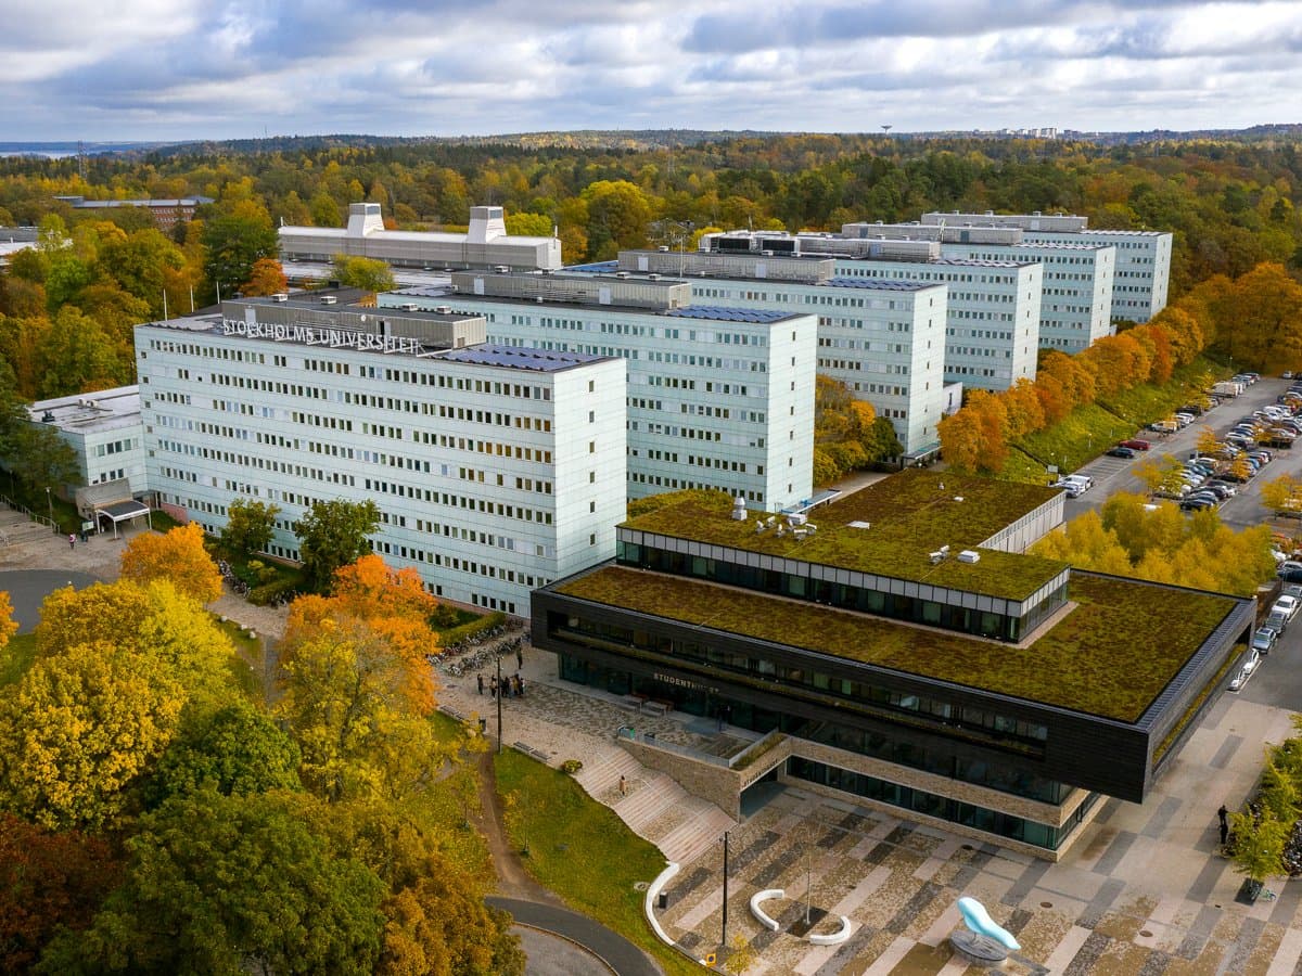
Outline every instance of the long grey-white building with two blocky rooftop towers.
[(561, 267), (560, 239), (508, 234), (501, 207), (471, 207), (464, 234), (385, 230), (378, 203), (350, 204), (345, 228), (283, 226), (279, 233), (286, 262), (331, 262), (346, 254), (426, 271)]

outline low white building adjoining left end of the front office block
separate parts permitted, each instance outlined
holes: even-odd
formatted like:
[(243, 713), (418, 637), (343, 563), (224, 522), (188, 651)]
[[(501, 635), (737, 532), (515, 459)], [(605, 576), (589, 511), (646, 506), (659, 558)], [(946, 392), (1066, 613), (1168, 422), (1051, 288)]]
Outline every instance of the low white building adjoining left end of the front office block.
[(34, 424), (53, 427), (73, 449), (81, 484), (124, 481), (129, 495), (146, 492), (145, 423), (138, 386), (42, 400), (27, 407), (27, 415)]

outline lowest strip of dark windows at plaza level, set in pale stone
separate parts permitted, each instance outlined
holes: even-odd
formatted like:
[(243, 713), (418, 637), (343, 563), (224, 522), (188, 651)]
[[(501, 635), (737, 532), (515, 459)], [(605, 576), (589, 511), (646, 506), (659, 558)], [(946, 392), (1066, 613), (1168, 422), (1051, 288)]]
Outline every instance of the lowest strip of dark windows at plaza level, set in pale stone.
[(1051, 826), (1035, 820), (1017, 817), (1012, 813), (1001, 813), (948, 796), (939, 796), (911, 786), (901, 786), (889, 779), (879, 779), (865, 773), (854, 773), (849, 769), (841, 769), (824, 763), (799, 759), (798, 756), (793, 756), (786, 761), (786, 772), (797, 779), (829, 786), (833, 790), (865, 796), (879, 803), (888, 803), (901, 809), (911, 809), (917, 813), (948, 820), (953, 824), (962, 824), (987, 834), (1006, 837), (1051, 851), (1057, 850), (1062, 839), (1079, 825), (1099, 800), (1099, 794), (1091, 793), (1072, 816), (1068, 817), (1062, 826)]

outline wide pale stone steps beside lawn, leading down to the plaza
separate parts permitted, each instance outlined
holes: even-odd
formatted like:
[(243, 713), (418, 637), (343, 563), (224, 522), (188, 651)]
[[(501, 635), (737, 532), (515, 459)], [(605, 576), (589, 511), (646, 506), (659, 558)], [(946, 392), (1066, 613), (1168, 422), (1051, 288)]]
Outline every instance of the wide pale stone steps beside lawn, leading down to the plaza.
[[(620, 794), (620, 777), (625, 794)], [(690, 864), (737, 822), (719, 807), (693, 796), (664, 773), (647, 769), (618, 746), (604, 746), (575, 777), (595, 800), (629, 829), (678, 864)]]

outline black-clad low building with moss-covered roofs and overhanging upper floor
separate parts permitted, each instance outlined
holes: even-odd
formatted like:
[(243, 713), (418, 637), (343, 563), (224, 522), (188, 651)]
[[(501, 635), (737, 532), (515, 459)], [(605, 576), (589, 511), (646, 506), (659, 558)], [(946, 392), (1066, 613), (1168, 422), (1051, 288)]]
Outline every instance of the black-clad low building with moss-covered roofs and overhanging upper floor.
[(776, 517), (665, 496), (613, 562), (534, 592), (534, 644), (764, 733), (725, 790), (777, 778), (1056, 859), (1103, 800), (1144, 799), (1255, 609), (1025, 554), (1062, 498), (921, 470)]

